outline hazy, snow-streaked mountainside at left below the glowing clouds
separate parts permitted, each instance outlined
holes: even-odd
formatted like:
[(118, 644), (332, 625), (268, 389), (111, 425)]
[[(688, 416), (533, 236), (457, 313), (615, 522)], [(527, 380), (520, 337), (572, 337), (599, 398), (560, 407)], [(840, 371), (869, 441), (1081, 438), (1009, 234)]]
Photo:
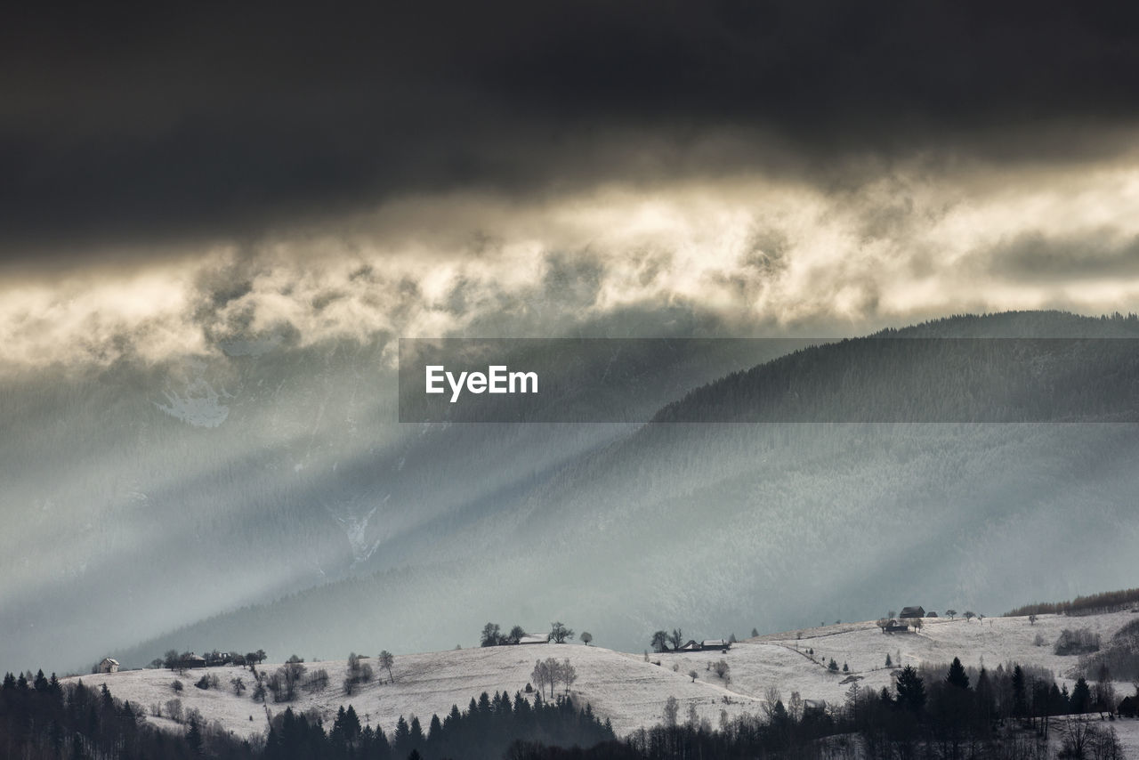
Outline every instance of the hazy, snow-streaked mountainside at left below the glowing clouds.
[[(645, 418), (765, 356), (700, 345), (711, 348), (646, 358), (673, 367), (672, 383), (641, 378), (622, 403)], [(461, 550), (449, 545), (449, 558), (478, 566), (486, 555), (462, 539), (467, 525), (636, 428), (400, 425), (383, 342), (223, 349), (0, 378), (0, 605), (21, 611), (0, 616), (5, 667), (85, 668), (243, 605), (431, 567), (432, 547), (452, 534)], [(75, 620), (88, 621), (84, 635)], [(452, 643), (384, 624), (384, 640), (404, 649)]]

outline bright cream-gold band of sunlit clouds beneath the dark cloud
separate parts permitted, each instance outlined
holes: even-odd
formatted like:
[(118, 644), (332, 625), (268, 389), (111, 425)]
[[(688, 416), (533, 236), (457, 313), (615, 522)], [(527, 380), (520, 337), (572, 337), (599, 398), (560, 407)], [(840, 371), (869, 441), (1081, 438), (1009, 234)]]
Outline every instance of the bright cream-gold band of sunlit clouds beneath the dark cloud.
[[(13, 278), (5, 363), (159, 360), (235, 337), (548, 335), (625, 308), (759, 326), (877, 325), (999, 309), (1128, 311), (1139, 166), (919, 162), (838, 190), (735, 174), (533, 202), (415, 196), (129, 272)], [(1054, 252), (1049, 255), (1049, 251)]]

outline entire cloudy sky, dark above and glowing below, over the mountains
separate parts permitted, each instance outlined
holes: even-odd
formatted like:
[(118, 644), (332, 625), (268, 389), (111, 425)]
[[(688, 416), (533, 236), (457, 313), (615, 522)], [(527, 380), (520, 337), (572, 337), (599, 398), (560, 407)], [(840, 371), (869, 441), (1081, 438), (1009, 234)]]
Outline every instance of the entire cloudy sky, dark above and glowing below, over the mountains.
[(3, 367), (1139, 303), (1125, 3), (27, 5)]

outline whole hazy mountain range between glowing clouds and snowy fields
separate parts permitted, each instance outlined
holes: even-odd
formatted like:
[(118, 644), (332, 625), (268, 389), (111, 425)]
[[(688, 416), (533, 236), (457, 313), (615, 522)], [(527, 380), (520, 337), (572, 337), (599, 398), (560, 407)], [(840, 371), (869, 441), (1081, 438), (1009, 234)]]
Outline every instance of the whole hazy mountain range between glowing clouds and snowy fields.
[[(487, 620), (556, 619), (636, 652), (657, 628), (727, 637), (880, 598), (992, 612), (1133, 583), (1136, 367), (1115, 338), (1136, 335), (1132, 318), (957, 317), (784, 358), (662, 353), (648, 359), (672, 379), (628, 390), (661, 419), (747, 419), (763, 399), (830, 422), (400, 425), (382, 348), (351, 342), (6, 381), (0, 604), (19, 614), (0, 621), (0, 657), (423, 652)], [(933, 350), (876, 348), (985, 337), (1111, 350), (990, 352), (970, 385)], [(858, 382), (836, 384), (852, 366)], [(740, 393), (777, 375), (798, 398)], [(882, 422), (900, 377), (989, 422)], [(1025, 377), (1036, 422), (994, 422), (1024, 417), (975, 391)], [(1070, 392), (1080, 378), (1095, 393)], [(831, 418), (868, 389), (875, 415)]]

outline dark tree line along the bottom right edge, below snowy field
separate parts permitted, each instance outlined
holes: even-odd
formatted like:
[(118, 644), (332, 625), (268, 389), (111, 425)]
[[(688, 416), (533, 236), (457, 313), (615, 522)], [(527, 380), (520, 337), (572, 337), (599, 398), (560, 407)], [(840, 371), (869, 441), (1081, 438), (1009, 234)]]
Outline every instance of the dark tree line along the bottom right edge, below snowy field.
[(1087, 714), (1097, 709), (1097, 694), (1103, 694), (1098, 685), (1083, 680), (1067, 694), (1043, 669), (1010, 663), (994, 671), (977, 671), (954, 659), (948, 668), (907, 665), (898, 672), (893, 688), (876, 692), (852, 684), (841, 705), (820, 706), (797, 692), (785, 702), (770, 688), (759, 713), (729, 718), (721, 711), (716, 729), (707, 718), (698, 717), (695, 703), (682, 718), (680, 702), (670, 697), (661, 722), (632, 733), (623, 742), (576, 752), (527, 745), (515, 747), (508, 757), (1030, 760), (1056, 758), (1052, 746), (1058, 741), (1062, 758), (1122, 760), (1112, 724)]

